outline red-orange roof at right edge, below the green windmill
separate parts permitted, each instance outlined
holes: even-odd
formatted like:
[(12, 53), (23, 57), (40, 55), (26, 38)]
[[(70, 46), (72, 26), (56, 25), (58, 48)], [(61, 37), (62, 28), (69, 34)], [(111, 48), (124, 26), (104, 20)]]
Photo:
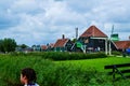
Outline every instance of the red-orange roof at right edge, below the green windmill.
[(130, 47), (130, 41), (118, 41), (114, 42), (117, 49), (126, 49)]

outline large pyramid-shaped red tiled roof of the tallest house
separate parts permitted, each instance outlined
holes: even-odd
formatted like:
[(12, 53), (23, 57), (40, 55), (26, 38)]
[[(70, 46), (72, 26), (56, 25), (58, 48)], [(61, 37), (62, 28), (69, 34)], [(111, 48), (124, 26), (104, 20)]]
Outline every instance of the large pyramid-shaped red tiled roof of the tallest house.
[(80, 37), (107, 38), (107, 35), (95, 26), (90, 26)]

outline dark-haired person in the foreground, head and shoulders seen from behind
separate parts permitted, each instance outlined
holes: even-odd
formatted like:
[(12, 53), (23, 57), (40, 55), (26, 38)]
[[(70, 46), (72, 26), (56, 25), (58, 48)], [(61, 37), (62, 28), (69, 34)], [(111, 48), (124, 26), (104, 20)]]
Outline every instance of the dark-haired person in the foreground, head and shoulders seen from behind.
[(24, 86), (39, 86), (36, 80), (37, 76), (34, 69), (25, 68), (21, 71), (21, 83), (24, 84)]

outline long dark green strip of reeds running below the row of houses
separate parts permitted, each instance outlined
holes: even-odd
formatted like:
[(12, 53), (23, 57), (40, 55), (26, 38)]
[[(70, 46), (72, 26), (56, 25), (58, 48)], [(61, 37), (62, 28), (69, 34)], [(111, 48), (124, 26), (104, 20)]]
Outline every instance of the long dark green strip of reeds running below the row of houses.
[(39, 53), (12, 53), (12, 55), (40, 56), (51, 60), (79, 60), (107, 57), (104, 53), (83, 54), (83, 53), (63, 53), (63, 52), (39, 52)]

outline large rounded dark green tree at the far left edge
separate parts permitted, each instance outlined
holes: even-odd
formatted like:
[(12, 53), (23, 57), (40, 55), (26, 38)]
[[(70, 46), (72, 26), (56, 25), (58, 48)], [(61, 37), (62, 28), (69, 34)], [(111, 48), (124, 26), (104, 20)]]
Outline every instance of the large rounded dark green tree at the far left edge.
[(16, 47), (16, 42), (13, 39), (0, 40), (0, 51), (3, 53), (14, 52)]

